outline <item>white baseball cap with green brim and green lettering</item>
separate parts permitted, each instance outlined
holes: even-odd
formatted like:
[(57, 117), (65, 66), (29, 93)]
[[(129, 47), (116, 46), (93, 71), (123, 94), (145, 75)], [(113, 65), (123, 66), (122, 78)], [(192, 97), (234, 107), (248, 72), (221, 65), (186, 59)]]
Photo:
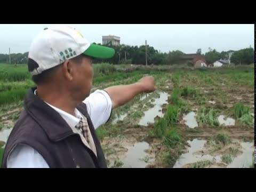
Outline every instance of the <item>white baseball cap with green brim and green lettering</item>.
[(28, 70), (32, 75), (38, 75), (80, 54), (109, 59), (114, 56), (115, 50), (89, 43), (78, 30), (70, 26), (45, 28), (30, 45)]

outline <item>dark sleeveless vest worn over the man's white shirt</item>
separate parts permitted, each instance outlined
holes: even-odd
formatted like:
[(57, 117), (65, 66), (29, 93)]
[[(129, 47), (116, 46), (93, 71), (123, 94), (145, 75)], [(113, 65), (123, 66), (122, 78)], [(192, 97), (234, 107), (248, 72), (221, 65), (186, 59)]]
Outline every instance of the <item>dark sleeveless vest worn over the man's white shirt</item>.
[(77, 109), (87, 118), (97, 156), (83, 144), (79, 134), (71, 130), (60, 114), (40, 100), (34, 91), (35, 88), (28, 92), (24, 102), (25, 110), (22, 111), (6, 142), (2, 167), (6, 167), (7, 157), (12, 149), (23, 143), (37, 150), (50, 167), (107, 168), (86, 105), (82, 103)]

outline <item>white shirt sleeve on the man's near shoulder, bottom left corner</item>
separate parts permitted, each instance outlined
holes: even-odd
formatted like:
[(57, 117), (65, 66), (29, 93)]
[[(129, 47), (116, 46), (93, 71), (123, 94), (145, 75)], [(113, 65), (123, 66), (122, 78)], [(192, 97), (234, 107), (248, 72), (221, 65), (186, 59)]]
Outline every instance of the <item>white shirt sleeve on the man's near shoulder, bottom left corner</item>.
[(34, 148), (19, 144), (7, 159), (7, 168), (49, 168), (49, 165)]

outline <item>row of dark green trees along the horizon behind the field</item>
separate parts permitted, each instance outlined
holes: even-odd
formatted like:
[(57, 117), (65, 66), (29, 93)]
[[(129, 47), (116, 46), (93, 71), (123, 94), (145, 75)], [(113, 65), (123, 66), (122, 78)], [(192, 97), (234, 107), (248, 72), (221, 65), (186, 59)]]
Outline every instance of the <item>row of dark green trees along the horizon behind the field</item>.
[[(95, 44), (95, 43), (94, 43)], [(100, 44), (99, 44), (100, 45)], [(134, 65), (146, 65), (146, 46), (129, 46), (129, 45), (112, 45), (108, 43), (108, 47), (115, 49), (115, 55), (111, 59), (95, 59), (94, 63), (108, 62), (115, 65), (118, 64), (134, 64)], [(201, 49), (195, 51), (195, 53), (201, 54), (206, 63), (213, 63), (217, 60), (228, 59), (228, 52), (218, 52), (215, 49), (209, 47), (209, 51), (202, 54)], [(147, 61), (148, 65), (174, 65), (182, 62), (182, 55), (185, 54), (182, 51), (175, 50), (169, 53), (161, 53), (154, 49), (153, 46), (147, 45)], [(27, 63), (28, 52), (26, 53), (13, 53), (11, 54), (11, 64), (25, 64)], [(236, 65), (249, 65), (254, 62), (254, 50), (253, 48), (246, 48), (239, 51), (235, 51), (230, 58), (231, 63)], [(0, 54), (0, 63), (9, 63), (9, 54)]]

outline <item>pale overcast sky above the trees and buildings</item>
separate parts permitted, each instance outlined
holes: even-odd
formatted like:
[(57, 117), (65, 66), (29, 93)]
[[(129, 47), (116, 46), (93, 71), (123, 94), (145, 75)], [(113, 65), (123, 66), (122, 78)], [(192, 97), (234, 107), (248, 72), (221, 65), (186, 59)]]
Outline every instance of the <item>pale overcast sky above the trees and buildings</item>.
[[(25, 53), (33, 38), (45, 27), (54, 24), (0, 24), (0, 53)], [(121, 37), (121, 44), (142, 45), (147, 40), (158, 51), (180, 50), (202, 53), (208, 47), (217, 51), (254, 47), (253, 24), (67, 24), (77, 28), (93, 43), (102, 43), (102, 36)]]

